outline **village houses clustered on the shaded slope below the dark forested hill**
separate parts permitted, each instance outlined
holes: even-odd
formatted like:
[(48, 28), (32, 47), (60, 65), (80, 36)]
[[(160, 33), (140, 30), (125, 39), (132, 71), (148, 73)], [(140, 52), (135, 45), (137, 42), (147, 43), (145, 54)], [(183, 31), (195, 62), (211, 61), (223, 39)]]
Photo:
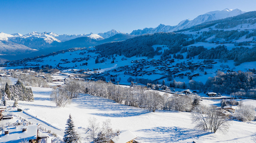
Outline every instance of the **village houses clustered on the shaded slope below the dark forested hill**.
[[(207, 63), (192, 63), (192, 62), (181, 62), (176, 65), (171, 65), (172, 60), (170, 59), (162, 59), (162, 60), (152, 60), (147, 61), (145, 59), (140, 59), (136, 61), (131, 61), (133, 66), (122, 67), (116, 70), (115, 72), (124, 72), (126, 75), (130, 76), (143, 76), (143, 75), (152, 75), (152, 74), (161, 74), (167, 76), (169, 72), (173, 74), (173, 77), (183, 77), (183, 76), (191, 76), (197, 77), (200, 76), (200, 72), (202, 68), (209, 68), (212, 64), (216, 64), (217, 62), (207, 62)], [(157, 66), (155, 69), (150, 67)], [(148, 69), (150, 68), (150, 69)], [(191, 70), (191, 72), (188, 72)], [(194, 72), (196, 70), (196, 72)], [(204, 74), (204, 73), (203, 73)]]

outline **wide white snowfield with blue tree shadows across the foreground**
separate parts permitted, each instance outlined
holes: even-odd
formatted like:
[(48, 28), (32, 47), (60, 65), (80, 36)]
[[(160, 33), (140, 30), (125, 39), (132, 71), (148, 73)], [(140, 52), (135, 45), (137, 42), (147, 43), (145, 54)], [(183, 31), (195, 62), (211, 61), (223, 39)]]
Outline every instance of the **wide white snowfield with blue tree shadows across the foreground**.
[[(86, 137), (84, 129), (88, 127), (88, 119), (95, 117), (100, 126), (103, 121), (110, 119), (114, 130), (131, 130), (138, 137), (136, 140), (141, 143), (256, 142), (255, 121), (249, 123), (230, 121), (228, 131), (211, 133), (195, 128), (189, 112), (157, 110), (153, 113), (146, 109), (117, 104), (113, 100), (88, 94), (81, 94), (65, 108), (58, 108), (50, 101), (51, 88), (31, 88), (34, 102), (19, 101), (21, 109), (62, 130), (65, 129), (66, 121), (71, 114), (83, 138)], [(203, 104), (208, 105), (217, 105), (220, 102), (221, 100), (202, 101)], [(256, 103), (255, 100), (244, 99), (244, 104), (247, 102), (251, 105)], [(9, 103), (12, 105), (13, 101)]]

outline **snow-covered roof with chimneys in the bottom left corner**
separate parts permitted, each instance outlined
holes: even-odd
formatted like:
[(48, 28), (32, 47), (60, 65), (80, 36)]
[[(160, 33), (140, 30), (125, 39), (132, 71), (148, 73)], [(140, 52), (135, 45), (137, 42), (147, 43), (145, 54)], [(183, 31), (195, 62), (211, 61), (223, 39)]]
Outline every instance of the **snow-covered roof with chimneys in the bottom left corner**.
[[(27, 131), (22, 132), (23, 128), (27, 128)], [(37, 138), (37, 124), (32, 125), (22, 125), (22, 126), (10, 126), (3, 129), (0, 142), (8, 143), (12, 142), (20, 142), (23, 139), (33, 140)], [(5, 131), (9, 131), (9, 134), (5, 134)]]

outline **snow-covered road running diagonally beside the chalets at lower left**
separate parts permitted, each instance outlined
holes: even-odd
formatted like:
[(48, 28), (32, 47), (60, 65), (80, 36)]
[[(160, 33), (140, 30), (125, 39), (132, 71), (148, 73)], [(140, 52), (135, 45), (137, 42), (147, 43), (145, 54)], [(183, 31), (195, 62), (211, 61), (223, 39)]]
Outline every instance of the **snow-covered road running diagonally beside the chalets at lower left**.
[(51, 125), (37, 117), (34, 117), (24, 111), (22, 111), (22, 112), (14, 111), (12, 113), (19, 115), (20, 117), (25, 118), (26, 120), (28, 120), (34, 124), (40, 124), (40, 126), (44, 127), (47, 130), (51, 130), (52, 132), (56, 133), (60, 137), (64, 136), (64, 130), (54, 127), (53, 125)]

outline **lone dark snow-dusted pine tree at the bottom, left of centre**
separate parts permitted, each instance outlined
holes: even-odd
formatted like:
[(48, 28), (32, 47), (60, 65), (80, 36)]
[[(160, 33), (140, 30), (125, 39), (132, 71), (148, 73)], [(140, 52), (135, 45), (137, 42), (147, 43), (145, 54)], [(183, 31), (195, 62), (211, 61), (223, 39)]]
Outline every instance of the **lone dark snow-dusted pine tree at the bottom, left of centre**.
[(68, 125), (65, 129), (65, 134), (63, 137), (63, 140), (65, 143), (78, 143), (79, 142), (79, 136), (76, 133), (75, 130), (75, 126), (74, 126), (74, 122), (72, 121), (72, 117), (69, 114), (69, 118), (67, 120), (67, 124)]

